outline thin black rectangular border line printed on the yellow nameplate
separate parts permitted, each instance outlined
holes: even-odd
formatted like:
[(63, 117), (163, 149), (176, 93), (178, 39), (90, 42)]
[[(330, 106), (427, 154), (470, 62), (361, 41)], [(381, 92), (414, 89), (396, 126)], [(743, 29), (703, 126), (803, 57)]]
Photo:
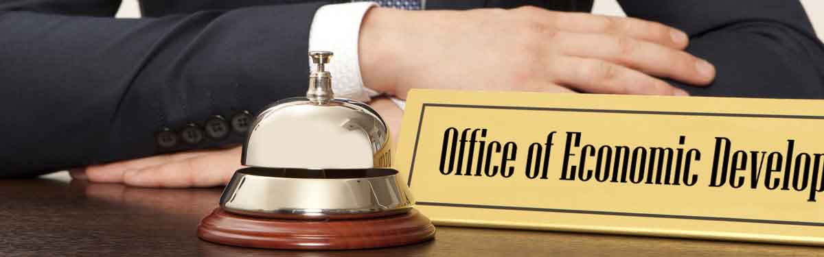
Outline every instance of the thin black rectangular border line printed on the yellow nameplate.
[[(447, 108), (471, 108), (471, 109), (490, 109), (490, 110), (545, 110), (558, 112), (579, 112), (579, 113), (604, 113), (604, 114), (650, 114), (650, 115), (686, 115), (686, 116), (710, 116), (710, 117), (743, 117), (743, 118), (764, 118), (764, 119), (824, 119), (824, 116), (813, 115), (782, 115), (782, 114), (725, 114), (725, 113), (709, 113), (709, 112), (681, 112), (681, 111), (655, 111), (655, 110), (605, 110), (605, 109), (575, 109), (575, 108), (545, 108), (545, 107), (521, 107), (521, 106), (498, 106), (498, 105), (453, 105), (453, 104), (434, 104), (424, 103), (421, 106), (420, 118), (418, 120), (418, 130), (415, 132), (414, 150), (412, 151), (412, 163), (410, 165), (409, 180), (406, 185), (412, 186), (412, 174), (414, 171), (414, 160), (418, 154), (418, 141), (420, 139), (420, 128), (424, 125), (424, 113), (427, 106), (432, 107), (447, 107)], [(608, 215), (608, 216), (622, 216), (622, 217), (657, 217), (657, 218), (675, 218), (675, 219), (689, 219), (702, 221), (716, 221), (716, 222), (747, 222), (747, 223), (761, 223), (761, 224), (778, 224), (778, 225), (796, 225), (808, 227), (824, 227), (822, 222), (796, 222), (796, 221), (780, 221), (780, 220), (765, 220), (765, 219), (751, 219), (739, 217), (704, 217), (704, 216), (689, 216), (689, 215), (674, 215), (674, 214), (659, 214), (659, 213), (621, 213), (608, 211), (591, 211), (591, 210), (575, 210), (575, 209), (560, 209), (560, 208), (530, 208), (517, 206), (499, 206), (499, 205), (482, 205), (482, 204), (467, 204), (467, 203), (433, 203), (433, 202), (416, 202), (418, 205), (442, 206), (442, 207), (457, 207), (457, 208), (485, 208), (511, 211), (526, 211), (526, 212), (545, 212), (545, 213), (578, 213), (589, 215)]]

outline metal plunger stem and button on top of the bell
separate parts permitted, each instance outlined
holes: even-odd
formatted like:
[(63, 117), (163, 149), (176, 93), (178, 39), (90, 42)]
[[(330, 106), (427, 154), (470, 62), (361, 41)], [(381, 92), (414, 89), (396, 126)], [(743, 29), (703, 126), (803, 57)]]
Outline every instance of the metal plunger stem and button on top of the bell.
[(309, 74), (307, 98), (313, 104), (325, 105), (335, 99), (335, 92), (332, 91), (332, 74), (325, 71), (325, 64), (330, 62), (332, 52), (311, 51), (309, 57), (312, 63), (317, 64), (317, 70)]

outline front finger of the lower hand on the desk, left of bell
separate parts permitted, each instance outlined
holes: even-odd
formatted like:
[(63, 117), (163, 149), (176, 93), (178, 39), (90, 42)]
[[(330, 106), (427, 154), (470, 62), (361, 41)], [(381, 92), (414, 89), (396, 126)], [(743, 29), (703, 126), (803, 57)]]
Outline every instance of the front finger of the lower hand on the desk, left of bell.
[(241, 147), (125, 171), (123, 183), (142, 187), (211, 187), (226, 185), (241, 166)]

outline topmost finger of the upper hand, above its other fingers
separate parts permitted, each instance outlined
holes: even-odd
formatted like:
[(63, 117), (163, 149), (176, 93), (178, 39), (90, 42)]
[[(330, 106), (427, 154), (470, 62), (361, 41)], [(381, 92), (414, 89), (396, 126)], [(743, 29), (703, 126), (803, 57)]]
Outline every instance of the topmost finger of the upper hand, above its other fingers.
[(526, 7), (527, 16), (555, 30), (610, 34), (631, 37), (672, 49), (684, 49), (689, 36), (681, 30), (654, 21), (637, 18), (593, 15), (583, 12), (556, 12), (537, 7)]

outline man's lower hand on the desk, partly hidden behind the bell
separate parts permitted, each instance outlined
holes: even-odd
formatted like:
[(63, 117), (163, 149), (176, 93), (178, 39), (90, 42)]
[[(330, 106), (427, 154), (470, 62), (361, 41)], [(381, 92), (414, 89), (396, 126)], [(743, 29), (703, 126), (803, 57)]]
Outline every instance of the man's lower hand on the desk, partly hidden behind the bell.
[[(383, 117), (397, 139), (403, 111), (386, 98), (370, 103)], [(395, 141), (397, 142), (397, 141)], [(74, 169), (75, 180), (122, 183), (141, 187), (189, 188), (226, 185), (241, 168), (241, 147), (225, 150), (179, 152), (99, 166)]]

